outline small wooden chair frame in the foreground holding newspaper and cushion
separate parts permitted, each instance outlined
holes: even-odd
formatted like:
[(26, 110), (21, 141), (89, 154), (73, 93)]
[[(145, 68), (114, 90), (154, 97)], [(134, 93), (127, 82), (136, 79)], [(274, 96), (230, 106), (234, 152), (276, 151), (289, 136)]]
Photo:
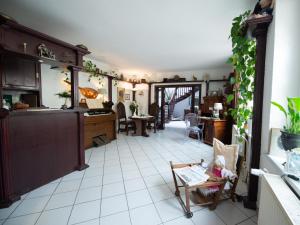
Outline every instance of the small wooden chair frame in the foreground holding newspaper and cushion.
[[(214, 210), (220, 201), (228, 200), (228, 199), (231, 199), (232, 201), (236, 201), (236, 198), (239, 197), (235, 192), (236, 192), (236, 186), (238, 183), (240, 171), (242, 168), (242, 162), (243, 162), (242, 156), (239, 156), (238, 160), (236, 162), (237, 178), (235, 178), (233, 181), (228, 180), (227, 178), (216, 177), (211, 172), (207, 172), (207, 174), (210, 177), (205, 183), (202, 183), (199, 185), (188, 186), (174, 172), (174, 169), (176, 169), (176, 168), (183, 168), (183, 167), (193, 166), (193, 165), (202, 165), (203, 162), (204, 162), (203, 159), (199, 163), (173, 164), (172, 162), (170, 162), (171, 169), (172, 169), (172, 175), (173, 175), (173, 179), (174, 179), (174, 184), (175, 184), (175, 196), (177, 196), (179, 203), (182, 206), (186, 217), (188, 217), (188, 218), (191, 218), (193, 216), (193, 213), (191, 212), (191, 204), (190, 204), (191, 198), (192, 198), (193, 202), (195, 203), (195, 206), (196, 205), (200, 205), (200, 206), (209, 205), (209, 209)], [(182, 185), (178, 185), (177, 178), (182, 183)], [(226, 182), (231, 183), (231, 188), (229, 190), (224, 190)], [(204, 196), (199, 191), (199, 188), (210, 188), (210, 187), (215, 187), (215, 186), (219, 186), (219, 190), (209, 196)], [(179, 190), (180, 187), (184, 188), (185, 201), (183, 201), (180, 196), (180, 190)]]

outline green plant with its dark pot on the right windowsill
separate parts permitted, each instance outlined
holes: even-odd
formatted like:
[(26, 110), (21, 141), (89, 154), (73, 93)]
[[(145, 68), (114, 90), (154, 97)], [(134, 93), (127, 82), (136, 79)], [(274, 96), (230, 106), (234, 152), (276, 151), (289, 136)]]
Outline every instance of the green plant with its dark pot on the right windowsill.
[(286, 125), (281, 130), (281, 142), (285, 150), (300, 147), (300, 97), (287, 98), (287, 110), (277, 102), (272, 102), (286, 118)]

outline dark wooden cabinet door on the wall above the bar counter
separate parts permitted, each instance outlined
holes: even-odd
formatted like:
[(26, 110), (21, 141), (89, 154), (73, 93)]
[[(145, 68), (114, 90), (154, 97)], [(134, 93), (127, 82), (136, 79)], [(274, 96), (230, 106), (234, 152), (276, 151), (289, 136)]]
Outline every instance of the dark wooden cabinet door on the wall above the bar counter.
[(39, 89), (39, 64), (13, 56), (3, 57), (3, 86), (15, 89)]

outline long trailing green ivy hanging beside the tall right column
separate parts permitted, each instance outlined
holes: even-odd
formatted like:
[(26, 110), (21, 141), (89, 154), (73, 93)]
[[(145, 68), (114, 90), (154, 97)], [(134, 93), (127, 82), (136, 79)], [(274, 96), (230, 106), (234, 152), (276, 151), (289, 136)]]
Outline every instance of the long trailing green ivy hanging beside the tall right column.
[(254, 93), (256, 41), (246, 36), (246, 20), (249, 15), (250, 11), (247, 11), (233, 19), (230, 33), (233, 55), (228, 60), (234, 67), (236, 76), (230, 79), (234, 89), (227, 96), (227, 102), (230, 103), (237, 96), (236, 107), (229, 112), (236, 121), (240, 137), (245, 136), (245, 125), (252, 117), (250, 103)]

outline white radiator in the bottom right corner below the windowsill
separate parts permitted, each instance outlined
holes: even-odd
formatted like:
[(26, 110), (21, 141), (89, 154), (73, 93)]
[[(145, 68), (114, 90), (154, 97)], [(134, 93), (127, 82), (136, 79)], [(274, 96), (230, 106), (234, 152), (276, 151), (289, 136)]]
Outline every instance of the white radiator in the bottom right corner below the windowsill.
[(258, 225), (299, 225), (300, 201), (277, 175), (264, 175)]

